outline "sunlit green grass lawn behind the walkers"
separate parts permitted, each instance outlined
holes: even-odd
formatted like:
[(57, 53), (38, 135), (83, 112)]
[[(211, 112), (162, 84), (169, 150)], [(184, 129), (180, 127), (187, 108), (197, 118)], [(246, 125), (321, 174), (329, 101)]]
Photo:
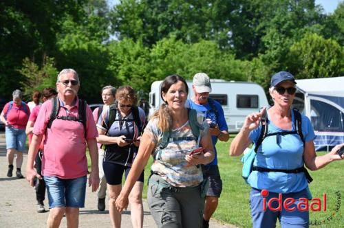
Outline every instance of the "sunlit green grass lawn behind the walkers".
[[(233, 137), (231, 137), (230, 141), (232, 139)], [(229, 157), (229, 145), (230, 142), (219, 142), (217, 144), (217, 157), (223, 181), (223, 190), (219, 199), (219, 206), (213, 218), (237, 227), (252, 227), (248, 201), (250, 186), (241, 177), (242, 164), (240, 157)], [(324, 152), (318, 152), (317, 154), (323, 155)], [(150, 174), (151, 163), (152, 159), (149, 159), (149, 163), (144, 170), (144, 198), (147, 196), (147, 179)], [(310, 171), (314, 179), (310, 184), (313, 197), (322, 198), (323, 193), (327, 194), (327, 210), (325, 212), (310, 212), (310, 221), (316, 220), (323, 223), (323, 225), (313, 227), (344, 227), (344, 200), (341, 203), (336, 196), (336, 192), (340, 191), (341, 198), (344, 198), (344, 191), (342, 191), (344, 187), (343, 168), (344, 161), (336, 161), (319, 171)], [(339, 203), (341, 203), (341, 207), (338, 212), (335, 212), (336, 204)]]

